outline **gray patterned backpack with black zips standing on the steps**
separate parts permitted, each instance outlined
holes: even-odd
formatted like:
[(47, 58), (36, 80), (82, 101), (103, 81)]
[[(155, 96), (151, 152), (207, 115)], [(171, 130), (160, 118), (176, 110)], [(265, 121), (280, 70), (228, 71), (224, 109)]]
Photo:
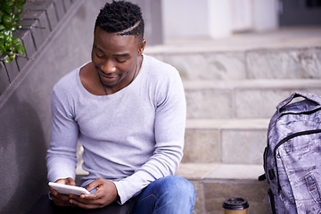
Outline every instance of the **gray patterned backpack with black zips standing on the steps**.
[(264, 170), (274, 214), (321, 213), (321, 96), (294, 93), (277, 105)]

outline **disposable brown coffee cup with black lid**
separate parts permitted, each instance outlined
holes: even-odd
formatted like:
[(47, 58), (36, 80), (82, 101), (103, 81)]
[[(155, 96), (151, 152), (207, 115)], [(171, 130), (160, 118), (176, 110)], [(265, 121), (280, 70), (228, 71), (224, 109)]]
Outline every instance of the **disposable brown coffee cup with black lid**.
[(249, 203), (243, 198), (230, 198), (223, 202), (225, 214), (246, 214)]

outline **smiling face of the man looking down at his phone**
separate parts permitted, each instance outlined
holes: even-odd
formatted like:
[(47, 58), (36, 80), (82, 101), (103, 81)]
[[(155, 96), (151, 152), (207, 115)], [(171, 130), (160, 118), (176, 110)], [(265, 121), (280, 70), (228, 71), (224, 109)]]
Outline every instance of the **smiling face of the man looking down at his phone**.
[(128, 86), (136, 70), (138, 54), (138, 37), (119, 36), (96, 27), (92, 62), (104, 86), (115, 91)]

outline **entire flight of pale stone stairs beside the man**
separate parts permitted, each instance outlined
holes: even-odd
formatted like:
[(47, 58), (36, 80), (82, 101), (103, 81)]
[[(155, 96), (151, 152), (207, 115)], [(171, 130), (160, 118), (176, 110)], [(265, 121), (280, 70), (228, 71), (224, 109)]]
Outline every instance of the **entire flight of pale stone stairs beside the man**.
[(185, 154), (177, 175), (195, 187), (193, 214), (223, 214), (230, 197), (247, 199), (250, 214), (271, 213), (268, 184), (258, 181), (269, 119), (293, 92), (321, 95), (321, 29), (312, 30), (146, 48), (183, 79)]

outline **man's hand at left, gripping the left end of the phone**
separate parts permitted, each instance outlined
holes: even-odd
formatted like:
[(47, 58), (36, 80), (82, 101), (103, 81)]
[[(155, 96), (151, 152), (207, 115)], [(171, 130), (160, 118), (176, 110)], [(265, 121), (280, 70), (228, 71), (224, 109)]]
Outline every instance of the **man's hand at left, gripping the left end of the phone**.
[[(54, 183), (62, 184), (62, 185), (76, 185), (75, 181), (71, 178), (58, 179)], [(62, 207), (70, 207), (72, 204), (70, 203), (70, 195), (58, 193), (55, 189), (50, 187), (50, 192), (52, 195), (53, 203), (57, 206)]]

